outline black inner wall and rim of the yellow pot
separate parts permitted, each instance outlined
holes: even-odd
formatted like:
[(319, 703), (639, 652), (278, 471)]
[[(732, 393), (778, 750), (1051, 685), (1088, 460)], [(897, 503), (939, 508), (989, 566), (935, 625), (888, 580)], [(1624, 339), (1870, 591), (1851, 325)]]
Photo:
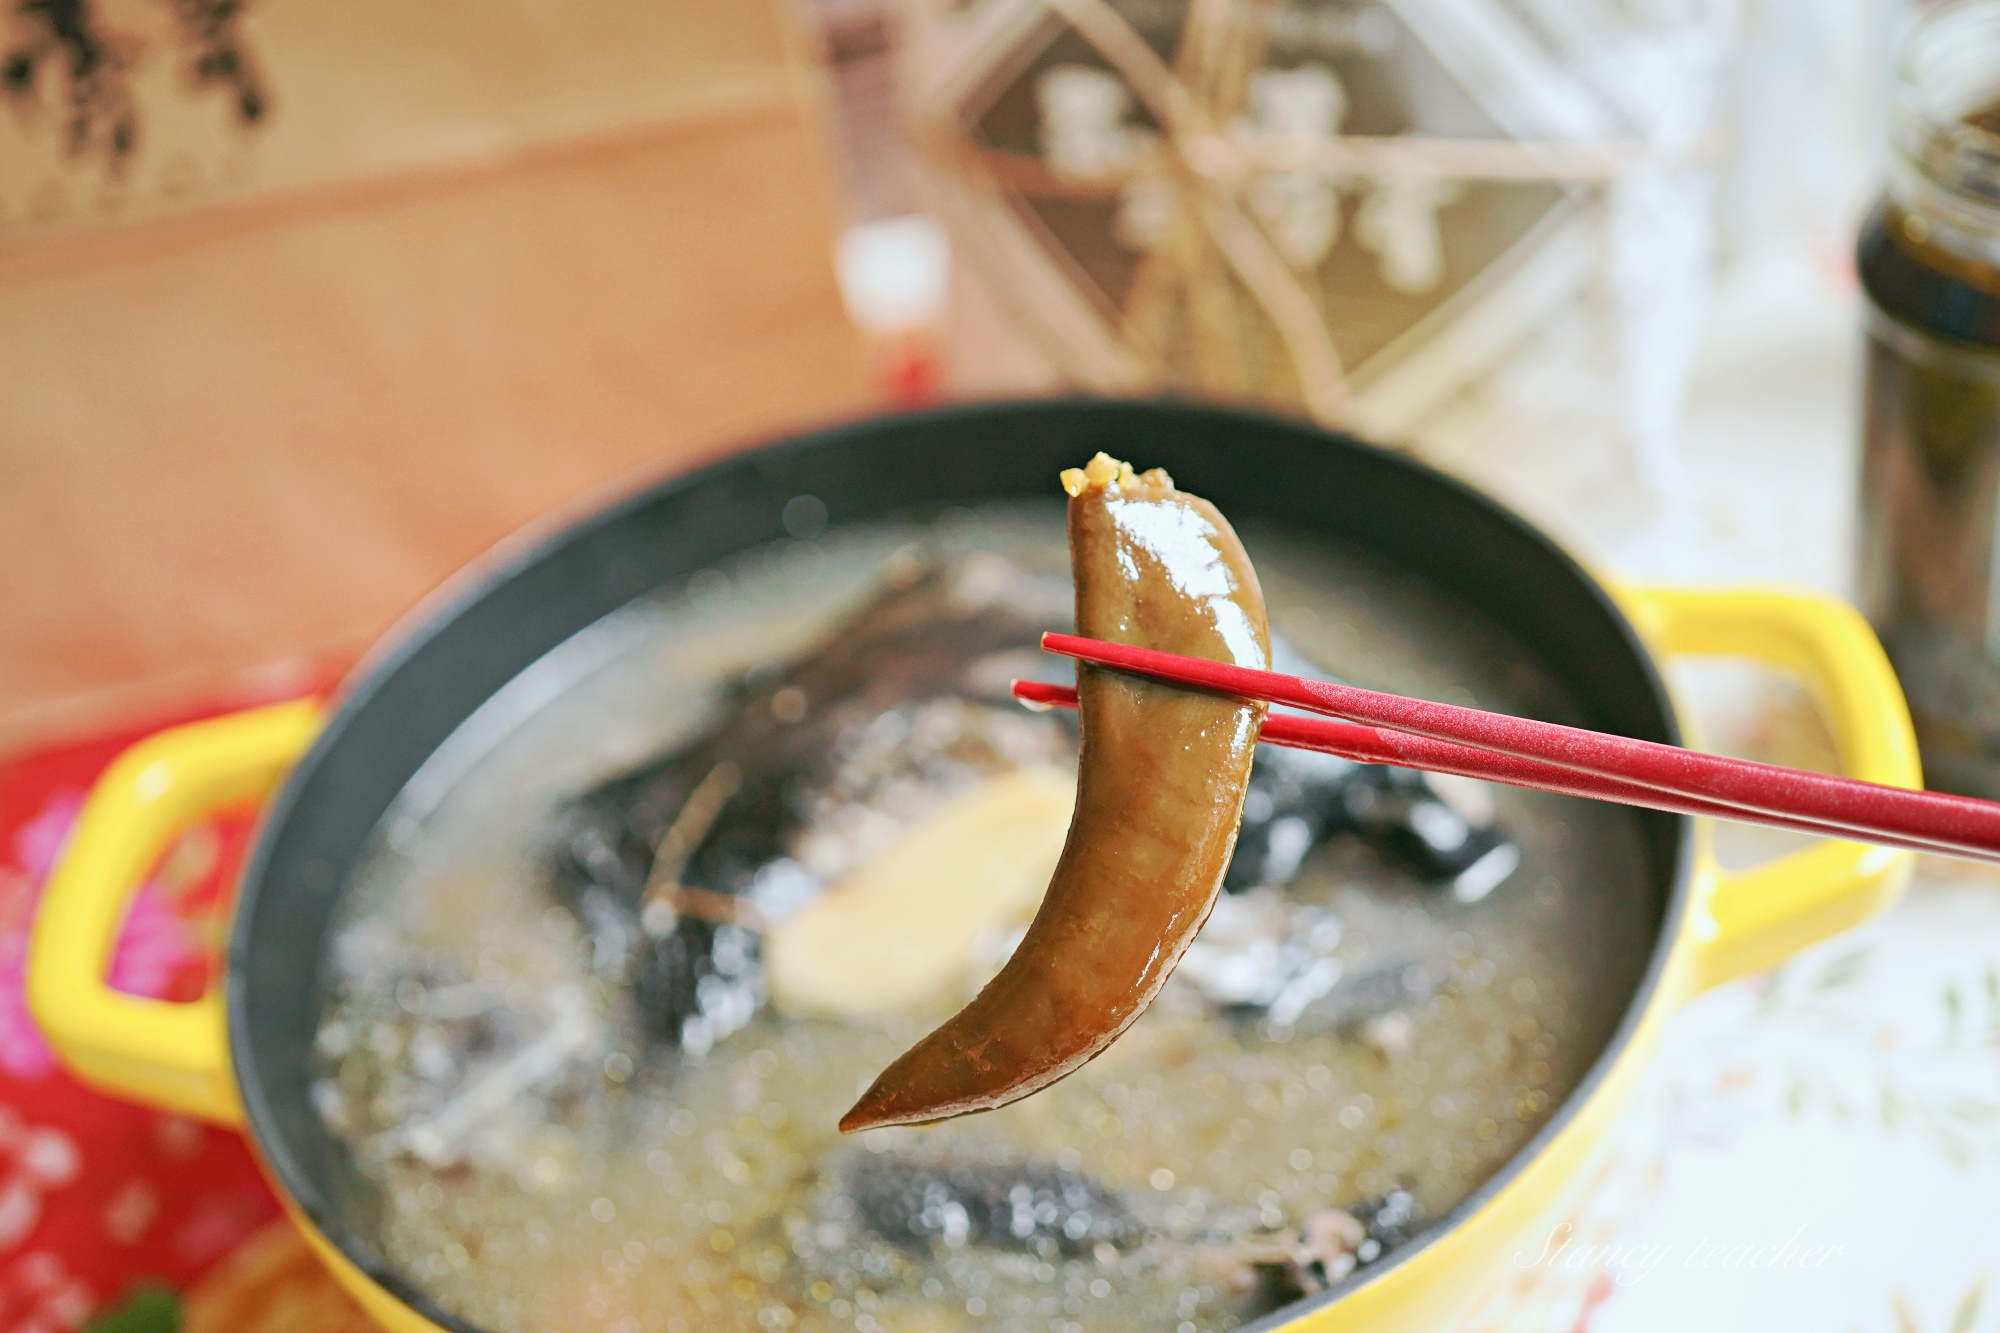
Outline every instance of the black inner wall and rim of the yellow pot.
[[(308, 1067), (322, 937), (342, 883), (378, 817), (432, 751), (576, 630), (726, 554), (784, 536), (782, 510), (794, 496), (818, 496), (834, 524), (1048, 496), (1060, 468), (1100, 448), (1166, 466), (1238, 524), (1324, 534), (1436, 584), (1504, 626), (1564, 687), (1584, 725), (1678, 741), (1630, 626), (1546, 536), (1408, 458), (1302, 422), (1166, 402), (968, 406), (838, 426), (664, 480), (452, 584), (350, 683), (270, 813), (230, 945), (236, 1077), (270, 1167), (350, 1257), (440, 1323), (456, 1323), (380, 1271), (328, 1209), (332, 1149), (312, 1107)], [(1626, 1021), (1598, 1073), (1658, 973), (1684, 879), (1684, 821), (1638, 819), (1660, 945), (1644, 975), (1600, 997), (1606, 1013)], [(1596, 1077), (1570, 1097), (1572, 1107)], [(1560, 1119), (1458, 1213), (1498, 1189)]]

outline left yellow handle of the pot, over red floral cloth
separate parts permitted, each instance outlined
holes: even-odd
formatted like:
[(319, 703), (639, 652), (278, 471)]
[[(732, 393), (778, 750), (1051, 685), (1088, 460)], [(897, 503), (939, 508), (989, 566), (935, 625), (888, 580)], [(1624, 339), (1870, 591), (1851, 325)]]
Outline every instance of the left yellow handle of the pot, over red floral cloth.
[(112, 991), (106, 973), (126, 909), (174, 835), (266, 797), (318, 729), (312, 701), (174, 727), (128, 749), (90, 789), (28, 945), (28, 1005), (78, 1079), (220, 1125), (242, 1121), (222, 987), (176, 1005)]

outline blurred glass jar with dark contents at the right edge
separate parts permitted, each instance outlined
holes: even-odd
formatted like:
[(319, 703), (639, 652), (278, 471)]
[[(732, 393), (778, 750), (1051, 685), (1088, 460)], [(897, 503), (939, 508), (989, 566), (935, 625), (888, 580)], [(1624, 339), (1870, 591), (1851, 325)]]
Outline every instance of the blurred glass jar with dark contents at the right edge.
[(2000, 0), (1910, 32), (1868, 294), (1862, 608), (1932, 787), (2000, 797)]

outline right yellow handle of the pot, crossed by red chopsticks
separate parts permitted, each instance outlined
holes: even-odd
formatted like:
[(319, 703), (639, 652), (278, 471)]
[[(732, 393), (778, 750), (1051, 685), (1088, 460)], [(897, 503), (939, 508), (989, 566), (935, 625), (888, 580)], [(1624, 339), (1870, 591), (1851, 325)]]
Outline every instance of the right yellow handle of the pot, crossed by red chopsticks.
[[(1922, 787), (1916, 733), (1880, 640), (1854, 606), (1806, 592), (1618, 588), (1662, 654), (1744, 656), (1808, 689), (1848, 777)], [(1706, 831), (1700, 835), (1706, 839)], [(1696, 985), (1756, 973), (1894, 903), (1914, 855), (1828, 839), (1750, 871), (1702, 857), (1694, 893)]]

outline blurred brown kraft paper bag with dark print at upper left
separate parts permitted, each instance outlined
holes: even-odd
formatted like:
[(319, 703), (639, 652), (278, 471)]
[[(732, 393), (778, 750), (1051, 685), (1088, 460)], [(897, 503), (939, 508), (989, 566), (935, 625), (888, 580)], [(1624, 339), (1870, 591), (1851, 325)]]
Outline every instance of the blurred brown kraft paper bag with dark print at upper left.
[(0, 747), (862, 400), (782, 0), (58, 12), (0, 18)]

